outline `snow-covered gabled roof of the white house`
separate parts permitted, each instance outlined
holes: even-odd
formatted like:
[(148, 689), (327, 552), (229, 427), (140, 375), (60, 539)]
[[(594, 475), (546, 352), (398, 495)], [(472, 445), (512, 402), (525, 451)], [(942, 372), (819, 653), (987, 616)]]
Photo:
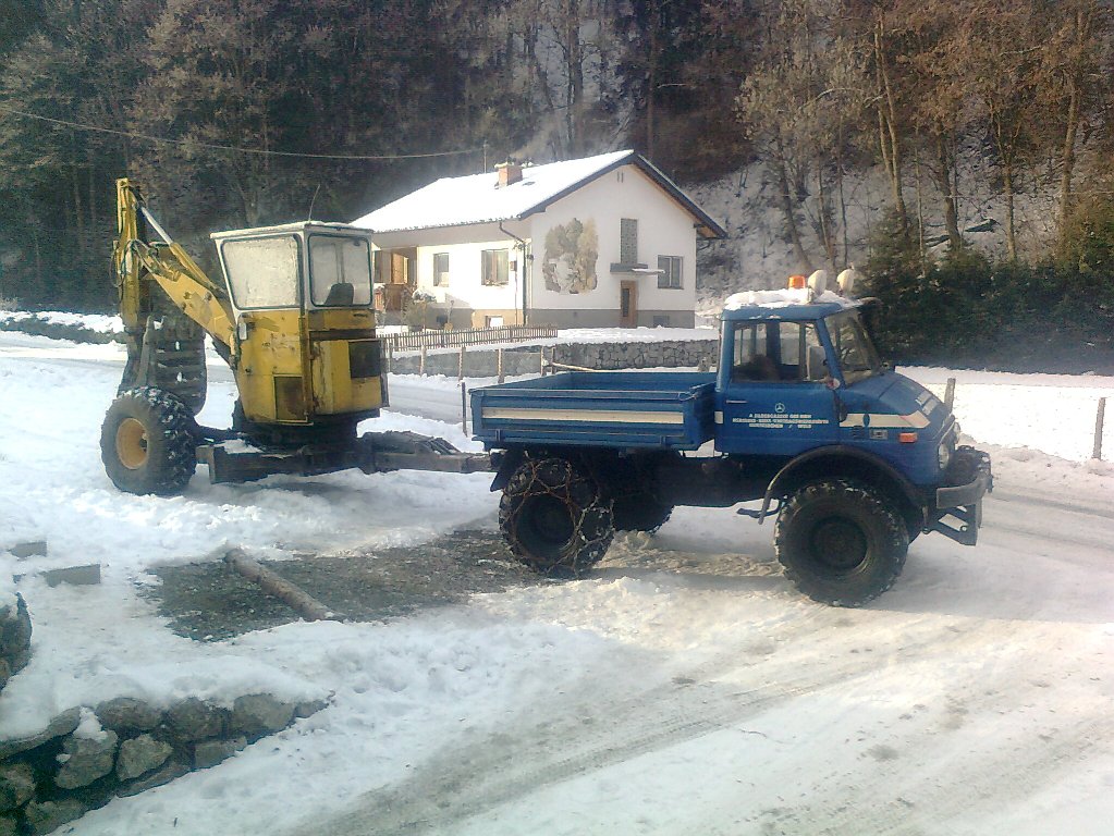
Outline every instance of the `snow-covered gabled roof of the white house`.
[[(648, 161), (632, 150), (612, 151), (596, 157), (524, 166), (522, 179), (498, 187), (495, 171), (468, 177), (443, 177), (405, 197), (352, 222), (373, 232), (429, 229), (444, 226), (496, 223), (526, 217), (580, 184), (624, 163), (644, 168), (654, 179), (661, 178), (667, 191), (687, 201), (687, 207), (716, 234), (725, 234), (684, 193)], [(656, 175), (656, 176), (655, 176)], [(667, 183), (667, 185), (665, 185)]]

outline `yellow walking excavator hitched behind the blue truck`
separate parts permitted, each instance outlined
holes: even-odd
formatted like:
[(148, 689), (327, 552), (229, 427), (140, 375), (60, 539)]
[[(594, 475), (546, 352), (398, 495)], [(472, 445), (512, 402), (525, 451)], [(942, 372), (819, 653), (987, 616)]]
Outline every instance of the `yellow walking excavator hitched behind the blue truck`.
[[(159, 226), (135, 184), (116, 188), (113, 269), (127, 363), (100, 450), (117, 488), (177, 494), (198, 462), (212, 482), (490, 469), (489, 456), (441, 439), (358, 435), (388, 405), (367, 229), (306, 220), (214, 233), (218, 283)], [(229, 430), (196, 421), (206, 336), (235, 376)]]

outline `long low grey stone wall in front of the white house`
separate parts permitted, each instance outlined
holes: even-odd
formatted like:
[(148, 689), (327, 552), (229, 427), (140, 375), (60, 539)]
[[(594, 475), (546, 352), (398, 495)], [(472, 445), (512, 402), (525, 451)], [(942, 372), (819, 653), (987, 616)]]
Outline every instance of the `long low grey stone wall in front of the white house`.
[[(537, 345), (514, 346), (502, 350), (505, 375), (540, 374), (541, 351)], [(672, 340), (654, 343), (561, 343), (546, 346), (546, 357), (555, 363), (583, 368), (678, 368), (701, 364), (714, 366), (719, 341)], [(466, 348), (463, 374), (467, 377), (494, 377), (499, 373), (498, 348)], [(397, 374), (460, 374), (461, 352), (429, 351), (422, 358), (419, 352), (394, 354), (390, 368)]]

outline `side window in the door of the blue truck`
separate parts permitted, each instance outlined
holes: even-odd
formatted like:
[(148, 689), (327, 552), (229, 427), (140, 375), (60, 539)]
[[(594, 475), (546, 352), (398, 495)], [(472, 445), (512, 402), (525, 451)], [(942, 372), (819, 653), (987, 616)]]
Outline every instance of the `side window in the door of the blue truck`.
[(820, 381), (824, 350), (811, 323), (741, 323), (735, 326), (731, 380)]

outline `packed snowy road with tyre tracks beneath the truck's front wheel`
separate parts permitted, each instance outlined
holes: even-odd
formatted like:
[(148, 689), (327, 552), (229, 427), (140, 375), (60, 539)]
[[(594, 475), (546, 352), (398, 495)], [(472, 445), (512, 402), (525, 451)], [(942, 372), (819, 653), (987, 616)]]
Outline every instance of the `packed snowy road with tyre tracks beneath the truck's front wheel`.
[(290, 833), (1101, 833), (1111, 531), (1108, 510), (997, 498), (978, 551), (918, 541), (867, 610), (793, 600), (761, 542), (742, 571), (620, 549), (603, 582), (531, 602), (609, 635), (605, 659)]

